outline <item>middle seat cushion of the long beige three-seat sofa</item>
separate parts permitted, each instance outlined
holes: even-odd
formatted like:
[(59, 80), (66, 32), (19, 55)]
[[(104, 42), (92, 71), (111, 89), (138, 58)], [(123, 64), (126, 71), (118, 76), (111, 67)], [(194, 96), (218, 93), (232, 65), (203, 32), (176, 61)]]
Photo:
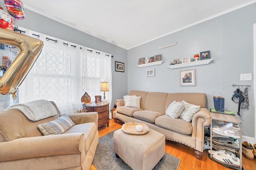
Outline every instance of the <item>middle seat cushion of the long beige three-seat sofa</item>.
[(136, 119), (146, 121), (149, 123), (155, 123), (156, 117), (160, 115), (164, 115), (164, 113), (150, 110), (134, 111), (133, 113), (133, 117), (135, 117)]

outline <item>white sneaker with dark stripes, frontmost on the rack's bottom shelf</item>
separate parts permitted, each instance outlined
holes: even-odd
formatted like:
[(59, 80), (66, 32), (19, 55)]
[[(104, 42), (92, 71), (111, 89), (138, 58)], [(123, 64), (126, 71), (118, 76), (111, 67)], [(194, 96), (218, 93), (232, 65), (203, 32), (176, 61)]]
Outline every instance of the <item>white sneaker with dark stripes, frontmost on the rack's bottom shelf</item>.
[(240, 159), (232, 158), (229, 154), (212, 155), (212, 158), (221, 164), (240, 168)]

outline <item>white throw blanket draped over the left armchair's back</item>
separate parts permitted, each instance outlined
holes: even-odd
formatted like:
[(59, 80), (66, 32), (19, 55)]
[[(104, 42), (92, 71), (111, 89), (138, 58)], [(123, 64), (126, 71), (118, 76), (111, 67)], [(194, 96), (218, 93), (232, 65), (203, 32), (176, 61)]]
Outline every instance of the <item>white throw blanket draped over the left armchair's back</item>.
[(24, 104), (14, 104), (5, 111), (16, 109), (21, 111), (28, 119), (38, 121), (50, 116), (57, 115), (56, 108), (47, 100), (36, 100)]

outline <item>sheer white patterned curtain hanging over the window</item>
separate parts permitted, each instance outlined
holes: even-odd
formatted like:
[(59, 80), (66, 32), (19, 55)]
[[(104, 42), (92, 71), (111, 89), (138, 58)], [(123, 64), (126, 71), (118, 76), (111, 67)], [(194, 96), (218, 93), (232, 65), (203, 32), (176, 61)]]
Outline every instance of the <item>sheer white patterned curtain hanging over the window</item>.
[(103, 96), (100, 92), (101, 81), (109, 82), (110, 91), (106, 92), (106, 99), (111, 102), (110, 54), (21, 27), (19, 29), (44, 42), (41, 54), (19, 87), (19, 103), (45, 99), (54, 101), (61, 113), (74, 113), (82, 109), (81, 97), (85, 92), (90, 95), (91, 102), (94, 102), (94, 96)]

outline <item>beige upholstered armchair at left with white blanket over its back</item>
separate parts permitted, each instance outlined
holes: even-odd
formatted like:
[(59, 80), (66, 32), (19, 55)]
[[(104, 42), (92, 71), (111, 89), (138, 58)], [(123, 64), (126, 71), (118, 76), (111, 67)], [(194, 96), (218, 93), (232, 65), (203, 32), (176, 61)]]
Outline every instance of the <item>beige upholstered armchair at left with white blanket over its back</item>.
[(68, 115), (75, 123), (60, 135), (44, 136), (38, 124), (60, 117), (39, 121), (29, 120), (13, 109), (0, 113), (1, 170), (89, 170), (98, 145), (98, 113)]

